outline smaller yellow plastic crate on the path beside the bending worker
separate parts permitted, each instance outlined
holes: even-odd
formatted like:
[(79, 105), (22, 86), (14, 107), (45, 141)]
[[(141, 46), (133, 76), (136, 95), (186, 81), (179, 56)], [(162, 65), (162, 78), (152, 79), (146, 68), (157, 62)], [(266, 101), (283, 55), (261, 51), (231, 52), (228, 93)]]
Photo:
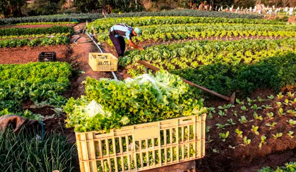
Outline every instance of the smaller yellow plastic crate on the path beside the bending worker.
[(111, 53), (89, 53), (89, 65), (95, 72), (117, 71), (117, 62)]

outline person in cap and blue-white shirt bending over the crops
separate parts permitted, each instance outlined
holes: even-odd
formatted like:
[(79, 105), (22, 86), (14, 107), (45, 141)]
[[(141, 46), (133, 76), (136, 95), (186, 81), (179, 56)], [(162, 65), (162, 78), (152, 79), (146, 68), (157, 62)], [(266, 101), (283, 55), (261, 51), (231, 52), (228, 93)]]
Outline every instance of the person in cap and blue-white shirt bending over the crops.
[(131, 39), (133, 36), (140, 36), (142, 34), (141, 30), (138, 27), (133, 29), (126, 24), (115, 24), (110, 28), (109, 32), (109, 37), (115, 47), (118, 57), (123, 56), (126, 49), (124, 38), (128, 40), (130, 46), (139, 50), (144, 50), (143, 47), (134, 44)]

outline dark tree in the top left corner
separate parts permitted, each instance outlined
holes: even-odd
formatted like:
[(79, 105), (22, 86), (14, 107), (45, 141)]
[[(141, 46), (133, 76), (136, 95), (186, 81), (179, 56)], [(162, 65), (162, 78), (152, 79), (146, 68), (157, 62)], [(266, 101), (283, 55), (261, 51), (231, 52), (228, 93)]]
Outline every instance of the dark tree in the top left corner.
[(0, 15), (2, 17), (22, 16), (21, 8), (25, 4), (25, 0), (0, 0)]

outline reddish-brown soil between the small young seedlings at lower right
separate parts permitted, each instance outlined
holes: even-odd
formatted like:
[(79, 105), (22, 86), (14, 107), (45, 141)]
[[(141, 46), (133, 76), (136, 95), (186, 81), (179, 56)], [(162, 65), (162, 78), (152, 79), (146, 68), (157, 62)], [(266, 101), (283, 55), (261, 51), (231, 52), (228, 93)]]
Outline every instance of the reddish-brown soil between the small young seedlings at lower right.
[[(250, 98), (256, 99), (257, 96), (260, 96), (262, 99), (267, 99), (266, 96), (273, 94), (271, 90), (257, 90), (255, 91)], [(276, 94), (273, 94), (274, 96)], [(206, 156), (205, 158), (202, 158), (201, 160), (197, 160), (197, 171), (257, 171), (258, 168), (262, 168), (264, 166), (281, 166), (287, 161), (295, 161), (296, 160), (296, 142), (295, 138), (291, 139), (287, 136), (287, 133), (289, 131), (295, 132), (295, 127), (290, 126), (286, 120), (293, 119), (295, 120), (296, 117), (294, 117), (291, 114), (286, 114), (283, 116), (280, 116), (278, 114), (278, 109), (276, 105), (276, 101), (284, 102), (285, 99), (293, 100), (295, 97), (288, 98), (288, 96), (284, 96), (282, 99), (278, 99), (277, 97), (270, 101), (266, 100), (264, 102), (255, 102), (253, 104), (257, 104), (258, 107), (261, 105), (272, 105), (274, 109), (259, 109), (255, 110), (257, 114), (260, 116), (262, 115), (263, 120), (255, 120), (253, 122), (247, 122), (245, 124), (241, 124), (238, 119), (241, 116), (245, 116), (247, 120), (254, 119), (253, 113), (254, 110), (250, 109), (251, 106), (247, 105), (247, 101), (244, 100), (245, 106), (247, 109), (249, 109), (246, 112), (243, 112), (241, 110), (241, 106), (239, 104), (236, 104), (235, 107), (228, 109), (227, 116), (220, 117), (218, 115), (218, 111), (222, 109), (218, 109), (218, 106), (223, 104), (228, 104), (228, 102), (225, 102), (223, 100), (212, 100), (206, 102), (207, 107), (215, 107), (216, 113), (213, 114), (213, 119), (207, 119), (206, 123), (207, 126), (210, 126), (210, 132), (206, 134), (206, 141), (209, 141), (208, 138), (210, 137), (210, 140), (213, 140), (211, 142), (206, 143)], [(292, 103), (292, 106), (286, 106), (282, 107), (284, 109), (284, 112), (286, 112), (288, 109), (294, 110), (296, 107), (296, 104)], [(223, 111), (223, 110), (222, 110)], [(233, 111), (237, 111), (237, 117), (234, 116)], [(274, 119), (269, 119), (266, 116), (266, 113), (273, 112), (274, 113)], [(223, 129), (217, 129), (217, 126), (215, 126), (216, 123), (225, 124), (229, 123), (227, 119), (233, 119), (233, 121), (236, 123), (236, 125), (226, 126), (225, 130)], [(277, 122), (275, 125), (275, 128), (273, 130), (269, 130), (269, 127), (267, 127), (266, 123), (272, 123)], [(258, 132), (259, 135), (255, 135), (251, 132), (252, 125), (259, 126)], [(239, 144), (244, 144), (243, 139), (239, 138), (237, 134), (234, 132), (234, 130), (238, 128), (240, 131), (243, 131), (243, 137), (247, 136), (248, 139), (251, 139), (250, 145), (247, 146), (241, 146)], [(219, 138), (218, 133), (223, 132), (226, 133), (227, 131), (230, 132), (228, 138), (225, 142), (222, 142), (222, 140)], [(272, 134), (276, 135), (276, 133), (283, 133), (283, 136), (274, 139)], [(267, 137), (266, 145), (262, 145), (262, 148), (260, 149), (258, 147), (260, 143), (260, 137), (261, 135), (265, 135)], [(228, 146), (231, 145), (232, 147), (236, 146), (235, 149), (229, 148)], [(216, 149), (219, 151), (219, 153), (214, 153), (213, 149)]]

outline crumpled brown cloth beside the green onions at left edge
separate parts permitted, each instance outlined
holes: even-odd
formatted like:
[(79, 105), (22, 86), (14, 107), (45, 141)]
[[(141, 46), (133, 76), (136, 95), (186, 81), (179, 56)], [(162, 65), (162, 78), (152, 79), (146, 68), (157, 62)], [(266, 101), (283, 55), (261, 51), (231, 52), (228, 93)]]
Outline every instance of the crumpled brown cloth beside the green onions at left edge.
[(9, 125), (12, 126), (15, 133), (24, 126), (25, 128), (41, 128), (41, 124), (37, 120), (30, 120), (28, 118), (20, 117), (18, 115), (3, 115), (0, 117), (0, 131), (3, 131)]

